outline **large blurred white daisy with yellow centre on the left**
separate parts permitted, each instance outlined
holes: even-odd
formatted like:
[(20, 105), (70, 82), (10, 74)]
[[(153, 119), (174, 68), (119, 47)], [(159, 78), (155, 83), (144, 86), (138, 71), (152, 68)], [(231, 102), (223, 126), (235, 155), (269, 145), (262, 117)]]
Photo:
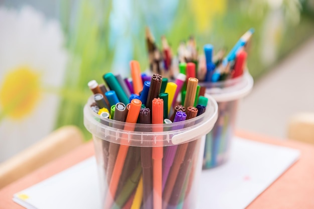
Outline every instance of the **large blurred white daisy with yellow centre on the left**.
[(0, 161), (49, 134), (67, 52), (58, 21), (30, 6), (0, 7)]

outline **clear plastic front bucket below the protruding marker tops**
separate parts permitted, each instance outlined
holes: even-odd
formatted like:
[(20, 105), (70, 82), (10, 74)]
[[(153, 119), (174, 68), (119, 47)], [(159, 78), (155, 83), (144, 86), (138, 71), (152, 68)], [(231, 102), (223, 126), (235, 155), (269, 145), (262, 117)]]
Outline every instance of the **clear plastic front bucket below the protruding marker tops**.
[[(90, 107), (93, 97), (89, 98), (84, 107), (84, 125), (93, 136), (102, 208), (196, 207), (205, 135), (218, 117), (217, 102), (208, 98), (203, 114), (169, 124), (100, 118)], [(113, 146), (118, 149), (110, 152)], [(160, 158), (152, 156), (156, 149), (163, 151)], [(124, 161), (117, 160), (122, 150), (126, 154)], [(158, 162), (160, 170), (155, 169)], [(121, 173), (110, 174), (117, 173), (112, 169), (120, 169)]]

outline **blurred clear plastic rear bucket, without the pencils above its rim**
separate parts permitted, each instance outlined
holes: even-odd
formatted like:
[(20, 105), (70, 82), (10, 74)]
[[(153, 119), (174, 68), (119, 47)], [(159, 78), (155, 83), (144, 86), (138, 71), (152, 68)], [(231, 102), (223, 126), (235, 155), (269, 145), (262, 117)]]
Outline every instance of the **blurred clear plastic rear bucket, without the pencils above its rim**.
[(203, 169), (223, 164), (229, 158), (238, 103), (253, 87), (253, 78), (246, 71), (242, 76), (220, 82), (200, 83), (218, 103), (218, 119), (206, 134)]

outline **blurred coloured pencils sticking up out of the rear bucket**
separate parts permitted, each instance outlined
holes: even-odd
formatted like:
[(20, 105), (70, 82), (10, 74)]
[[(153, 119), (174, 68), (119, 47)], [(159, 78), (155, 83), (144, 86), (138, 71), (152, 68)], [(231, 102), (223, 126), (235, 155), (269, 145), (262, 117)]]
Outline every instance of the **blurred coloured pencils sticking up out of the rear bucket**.
[(216, 54), (214, 54), (212, 44), (205, 44), (203, 46), (204, 53), (199, 53), (195, 38), (190, 36), (188, 41), (180, 42), (175, 58), (166, 37), (162, 37), (162, 47), (159, 49), (149, 29), (146, 28), (149, 68), (152, 72), (157, 71), (173, 78), (179, 72), (189, 73), (180, 64), (194, 63), (193, 74), (202, 82), (218, 82), (239, 77), (246, 69), (246, 48), (253, 32), (253, 28), (245, 32), (229, 53), (226, 53), (227, 51), (223, 48)]

